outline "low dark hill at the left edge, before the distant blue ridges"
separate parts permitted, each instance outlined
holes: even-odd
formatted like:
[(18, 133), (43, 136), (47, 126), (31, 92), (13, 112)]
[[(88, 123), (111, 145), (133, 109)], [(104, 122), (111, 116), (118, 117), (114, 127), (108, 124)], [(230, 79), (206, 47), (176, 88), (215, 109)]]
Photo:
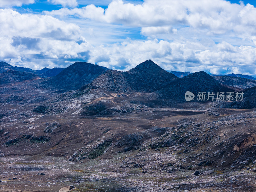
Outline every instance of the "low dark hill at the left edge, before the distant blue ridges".
[(11, 69), (9, 71), (5, 71), (4, 73), (0, 73), (0, 85), (35, 80), (38, 78), (40, 77), (33, 73)]

